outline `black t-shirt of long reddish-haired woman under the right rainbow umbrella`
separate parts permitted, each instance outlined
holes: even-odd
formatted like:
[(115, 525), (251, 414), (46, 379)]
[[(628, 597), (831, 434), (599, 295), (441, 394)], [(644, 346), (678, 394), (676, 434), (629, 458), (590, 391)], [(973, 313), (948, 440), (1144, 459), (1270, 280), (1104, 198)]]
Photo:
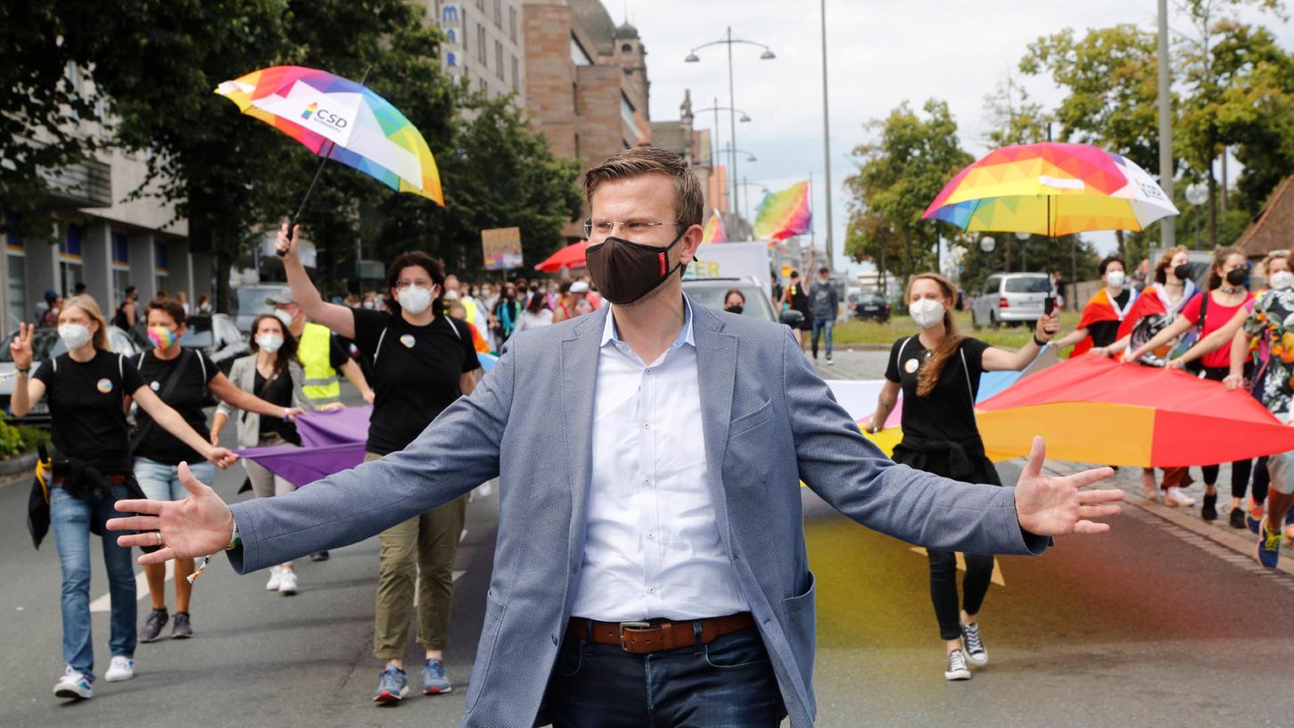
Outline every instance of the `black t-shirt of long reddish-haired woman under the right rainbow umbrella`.
[[(974, 422), (974, 395), (980, 391), (983, 352), (989, 345), (974, 338), (961, 339), (961, 355), (943, 364), (939, 381), (927, 396), (916, 394), (916, 377), (929, 351), (919, 337), (901, 338), (890, 347), (885, 378), (903, 386), (903, 437), (928, 440), (965, 442), (980, 437)], [(902, 351), (902, 356), (899, 352)]]

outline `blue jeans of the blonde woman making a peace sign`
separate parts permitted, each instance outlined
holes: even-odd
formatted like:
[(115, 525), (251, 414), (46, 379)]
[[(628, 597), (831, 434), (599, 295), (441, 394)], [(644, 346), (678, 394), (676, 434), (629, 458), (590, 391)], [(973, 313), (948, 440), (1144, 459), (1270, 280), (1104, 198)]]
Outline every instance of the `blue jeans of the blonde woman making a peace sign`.
[(49, 527), (58, 543), (58, 562), (63, 571), (63, 662), (72, 670), (94, 679), (94, 650), (91, 644), (89, 615), (89, 529), (96, 523), (104, 531), (104, 565), (113, 600), (113, 655), (135, 657), (135, 566), (131, 549), (116, 545), (116, 534), (104, 527), (109, 518), (126, 516), (113, 504), (129, 497), (126, 486), (113, 486), (111, 499), (78, 497), (61, 486), (49, 490)]

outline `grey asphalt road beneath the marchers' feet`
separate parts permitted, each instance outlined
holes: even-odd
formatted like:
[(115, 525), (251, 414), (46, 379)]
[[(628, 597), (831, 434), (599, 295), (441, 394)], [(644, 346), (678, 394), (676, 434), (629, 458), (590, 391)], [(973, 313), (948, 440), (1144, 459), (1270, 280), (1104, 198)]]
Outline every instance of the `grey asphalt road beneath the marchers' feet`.
[[(873, 365), (867, 358), (846, 363), (851, 358), (837, 354), (824, 374), (879, 376), (863, 373)], [(1017, 473), (1016, 464), (1003, 466), (1008, 483)], [(1123, 472), (1118, 481), (1135, 488), (1134, 478)], [(217, 478), (217, 491), (233, 499), (241, 481), (236, 466)], [(300, 563), (295, 597), (267, 593), (264, 574), (239, 578), (214, 561), (195, 589), (193, 640), (140, 645), (133, 680), (101, 680), (93, 700), (67, 703), (52, 696), (62, 670), (58, 561), (52, 541), (31, 549), (22, 521), (27, 484), (0, 486), (0, 508), (10, 514), (0, 531), (0, 725), (457, 725), (497, 496), (468, 508), (448, 696), (393, 709), (369, 702), (379, 670), (370, 657), (378, 552), (370, 539), (327, 562)], [(968, 683), (946, 683), (925, 557), (846, 521), (810, 491), (804, 499), (818, 579), (818, 725), (1291, 722), (1294, 576), (1255, 569), (1212, 535), (1220, 527), (1188, 527), (1189, 512), (1161, 517), (1162, 508), (1132, 504), (1108, 536), (1061, 539), (1040, 558), (1000, 558), (1003, 583), (981, 613), (991, 663)], [(92, 598), (107, 592), (97, 554), (94, 562)], [(146, 598), (140, 605), (142, 620)], [(93, 619), (102, 671), (107, 611)], [(410, 658), (417, 652), (410, 643)]]

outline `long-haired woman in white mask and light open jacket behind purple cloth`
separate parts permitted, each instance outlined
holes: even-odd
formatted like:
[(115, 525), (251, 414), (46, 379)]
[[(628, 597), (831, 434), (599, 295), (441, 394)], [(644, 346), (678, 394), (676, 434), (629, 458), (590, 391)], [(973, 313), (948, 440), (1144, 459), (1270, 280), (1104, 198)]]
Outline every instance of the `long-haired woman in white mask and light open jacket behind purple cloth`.
[[(224, 400), (216, 408), (216, 418), (211, 425), (211, 442), (220, 440), (220, 430), (225, 422), (241, 409), (238, 417), (238, 447), (300, 446), (292, 415), (314, 409), (302, 390), (305, 380), (304, 369), (296, 360), (296, 337), (274, 313), (261, 313), (251, 323), (251, 354), (236, 359), (229, 368), (229, 380), (245, 392), (254, 394), (274, 408), (281, 408), (282, 416), (261, 415), (246, 403)], [(272, 497), (290, 494), (296, 486), (269, 472), (260, 462), (243, 460), (247, 479), (256, 497)], [(269, 570), (265, 591), (292, 596), (298, 591), (296, 570), (292, 562), (280, 563)]]

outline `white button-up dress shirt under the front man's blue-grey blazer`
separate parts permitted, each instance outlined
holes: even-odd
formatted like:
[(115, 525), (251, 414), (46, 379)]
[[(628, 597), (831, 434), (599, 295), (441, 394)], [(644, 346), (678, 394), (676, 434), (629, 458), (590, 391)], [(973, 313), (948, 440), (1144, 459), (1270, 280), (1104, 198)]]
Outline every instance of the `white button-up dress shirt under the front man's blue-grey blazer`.
[(572, 615), (599, 622), (749, 611), (707, 487), (692, 307), (650, 365), (602, 333), (587, 531)]

